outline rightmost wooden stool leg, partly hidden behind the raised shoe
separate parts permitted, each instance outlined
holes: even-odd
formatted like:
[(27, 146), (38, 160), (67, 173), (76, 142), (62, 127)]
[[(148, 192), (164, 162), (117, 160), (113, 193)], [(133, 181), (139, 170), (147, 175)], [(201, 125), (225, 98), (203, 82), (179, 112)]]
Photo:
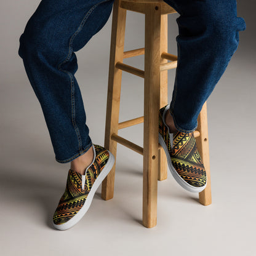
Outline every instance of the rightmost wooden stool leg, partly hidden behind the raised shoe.
[(210, 190), (210, 161), (209, 161), (209, 142), (208, 142), (208, 125), (207, 125), (207, 106), (204, 103), (202, 106), (201, 113), (198, 116), (198, 130), (200, 136), (196, 138), (196, 145), (198, 146), (198, 151), (201, 154), (202, 162), (206, 169), (207, 175), (207, 186), (199, 193), (199, 202), (204, 206), (208, 206), (212, 203), (212, 194)]

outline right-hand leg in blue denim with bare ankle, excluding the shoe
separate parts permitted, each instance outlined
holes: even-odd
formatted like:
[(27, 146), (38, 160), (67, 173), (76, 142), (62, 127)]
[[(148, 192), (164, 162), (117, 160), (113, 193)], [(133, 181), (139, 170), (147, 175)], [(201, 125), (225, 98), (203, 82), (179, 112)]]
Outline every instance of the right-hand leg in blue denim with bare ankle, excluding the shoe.
[(236, 0), (164, 1), (180, 14), (178, 65), (169, 111), (178, 130), (191, 132), (197, 127), (202, 105), (238, 47), (238, 31), (246, 24), (237, 17)]

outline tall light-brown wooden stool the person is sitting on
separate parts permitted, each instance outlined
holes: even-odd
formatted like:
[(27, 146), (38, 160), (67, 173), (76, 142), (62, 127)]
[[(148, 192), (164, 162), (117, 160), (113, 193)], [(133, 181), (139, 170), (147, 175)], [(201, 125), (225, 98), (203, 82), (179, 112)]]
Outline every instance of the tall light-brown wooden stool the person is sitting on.
[[(145, 14), (145, 48), (124, 52), (126, 10)], [(105, 148), (116, 157), (117, 142), (143, 155), (143, 225), (156, 225), (158, 180), (167, 178), (167, 161), (158, 144), (158, 110), (167, 102), (167, 70), (177, 67), (177, 56), (167, 53), (167, 15), (176, 11), (162, 0), (116, 0), (113, 6), (110, 71), (106, 106)], [(145, 54), (145, 71), (122, 63), (124, 58)], [(167, 62), (170, 60), (170, 62)], [(122, 71), (140, 76), (144, 83), (144, 116), (119, 123)], [(144, 122), (143, 148), (118, 136), (118, 130)], [(207, 187), (199, 202), (211, 203), (207, 110), (204, 104), (194, 132), (207, 172)], [(102, 198), (113, 198), (114, 170), (102, 183)]]

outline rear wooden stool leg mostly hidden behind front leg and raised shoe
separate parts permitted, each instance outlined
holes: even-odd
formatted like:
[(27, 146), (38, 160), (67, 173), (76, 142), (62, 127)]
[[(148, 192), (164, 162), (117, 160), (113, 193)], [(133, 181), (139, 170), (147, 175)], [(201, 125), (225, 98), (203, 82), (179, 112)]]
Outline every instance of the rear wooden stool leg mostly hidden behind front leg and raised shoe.
[[(168, 52), (168, 15), (161, 15), (161, 54)], [(161, 58), (161, 64), (167, 63), (165, 58)], [(160, 108), (168, 104), (168, 70), (162, 71), (160, 74)], [(166, 180), (167, 178), (167, 159), (166, 153), (161, 148), (158, 151), (158, 180)]]

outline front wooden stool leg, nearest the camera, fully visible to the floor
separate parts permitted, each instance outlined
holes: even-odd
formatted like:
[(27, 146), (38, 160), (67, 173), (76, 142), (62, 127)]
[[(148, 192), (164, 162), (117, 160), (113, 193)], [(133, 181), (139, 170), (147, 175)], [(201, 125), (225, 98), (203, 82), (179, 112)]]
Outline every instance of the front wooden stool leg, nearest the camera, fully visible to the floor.
[(143, 137), (143, 225), (156, 225), (158, 193), (158, 110), (160, 105), (160, 8), (145, 8), (145, 87)]

